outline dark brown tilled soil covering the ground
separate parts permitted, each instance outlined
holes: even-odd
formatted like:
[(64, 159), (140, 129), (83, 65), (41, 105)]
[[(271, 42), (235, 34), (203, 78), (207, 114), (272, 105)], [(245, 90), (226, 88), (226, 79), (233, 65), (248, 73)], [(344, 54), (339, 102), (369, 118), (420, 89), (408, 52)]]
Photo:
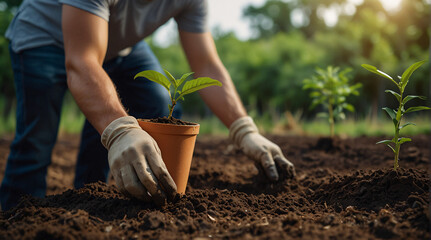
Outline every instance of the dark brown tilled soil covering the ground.
[[(164, 207), (114, 185), (72, 189), (76, 138), (61, 138), (44, 199), (1, 212), (0, 239), (430, 239), (430, 138), (401, 150), (381, 138), (268, 136), (296, 167), (269, 183), (225, 138), (199, 136), (187, 194)], [(0, 179), (9, 139), (0, 140)]]

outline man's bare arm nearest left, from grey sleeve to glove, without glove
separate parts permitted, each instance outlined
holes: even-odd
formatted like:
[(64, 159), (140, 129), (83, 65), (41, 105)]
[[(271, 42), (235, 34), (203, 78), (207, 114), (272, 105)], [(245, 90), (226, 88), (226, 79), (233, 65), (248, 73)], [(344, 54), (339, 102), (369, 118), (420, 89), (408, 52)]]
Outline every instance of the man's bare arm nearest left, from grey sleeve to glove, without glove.
[(102, 68), (108, 44), (108, 22), (63, 5), (62, 27), (70, 92), (102, 134), (113, 120), (127, 116), (114, 84)]

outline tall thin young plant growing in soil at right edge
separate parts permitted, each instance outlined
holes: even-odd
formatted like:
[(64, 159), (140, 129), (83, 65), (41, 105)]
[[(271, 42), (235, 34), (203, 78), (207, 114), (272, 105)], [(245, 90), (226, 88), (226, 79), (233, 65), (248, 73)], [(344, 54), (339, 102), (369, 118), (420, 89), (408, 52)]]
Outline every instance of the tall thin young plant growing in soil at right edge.
[(404, 116), (404, 114), (409, 113), (409, 112), (417, 112), (417, 111), (421, 111), (421, 110), (431, 109), (431, 108), (425, 107), (425, 106), (409, 107), (409, 108), (405, 109), (405, 105), (408, 101), (415, 99), (415, 98), (425, 100), (425, 97), (415, 96), (415, 95), (407, 95), (405, 97), (403, 96), (404, 90), (405, 90), (405, 88), (409, 82), (411, 75), (413, 74), (414, 71), (416, 71), (416, 69), (418, 69), (420, 66), (422, 66), (422, 64), (424, 64), (425, 62), (426, 62), (426, 60), (423, 60), (423, 61), (412, 64), (409, 68), (407, 68), (407, 70), (404, 71), (404, 73), (401, 77), (398, 76), (398, 81), (395, 81), (391, 76), (389, 76), (388, 74), (386, 74), (383, 71), (378, 70), (374, 66), (371, 66), (368, 64), (362, 64), (361, 65), (363, 68), (367, 69), (368, 71), (391, 80), (391, 82), (394, 83), (398, 88), (398, 92), (394, 92), (392, 90), (385, 90), (385, 92), (390, 93), (390, 94), (395, 96), (395, 98), (398, 101), (398, 109), (391, 109), (388, 107), (383, 108), (383, 110), (389, 115), (389, 117), (392, 119), (392, 121), (394, 123), (394, 126), (395, 126), (394, 138), (392, 138), (391, 140), (383, 140), (383, 141), (380, 141), (377, 143), (377, 144), (379, 144), (379, 143), (386, 144), (394, 152), (394, 155), (395, 155), (394, 156), (394, 170), (397, 170), (397, 168), (399, 167), (398, 159), (399, 159), (401, 144), (411, 141), (410, 138), (400, 137), (400, 130), (409, 126), (409, 125), (415, 125), (414, 123), (411, 123), (411, 122), (407, 122), (407, 123), (401, 125), (402, 117)]

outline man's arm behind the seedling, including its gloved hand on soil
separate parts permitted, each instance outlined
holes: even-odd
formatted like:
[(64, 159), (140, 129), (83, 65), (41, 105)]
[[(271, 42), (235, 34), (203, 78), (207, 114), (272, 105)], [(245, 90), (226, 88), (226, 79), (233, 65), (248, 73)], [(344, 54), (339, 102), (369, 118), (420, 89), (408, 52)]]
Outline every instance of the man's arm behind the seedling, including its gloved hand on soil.
[(211, 77), (223, 83), (199, 91), (217, 117), (229, 128), (229, 138), (236, 147), (255, 160), (271, 181), (295, 176), (295, 167), (283, 155), (280, 147), (259, 134), (253, 119), (238, 96), (233, 82), (221, 62), (209, 32), (180, 31), (180, 39), (190, 67), (196, 77)]

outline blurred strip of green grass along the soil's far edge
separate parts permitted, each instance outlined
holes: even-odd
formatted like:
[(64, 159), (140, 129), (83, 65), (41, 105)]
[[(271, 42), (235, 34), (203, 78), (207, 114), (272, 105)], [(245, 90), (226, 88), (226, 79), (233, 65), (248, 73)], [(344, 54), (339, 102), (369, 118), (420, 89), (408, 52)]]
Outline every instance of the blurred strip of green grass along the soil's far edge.
[[(0, 101), (1, 103), (1, 101)], [(0, 110), (2, 105), (0, 104)], [(1, 112), (1, 111), (0, 111)], [(403, 136), (413, 136), (418, 134), (431, 134), (430, 115), (414, 115), (406, 121), (415, 123), (417, 126), (409, 126), (401, 132)], [(266, 134), (289, 134), (289, 135), (309, 135), (309, 136), (329, 136), (329, 124), (323, 120), (306, 121), (299, 117), (286, 115), (276, 123), (266, 116), (253, 116), (257, 126), (262, 133)], [(63, 107), (60, 122), (60, 134), (79, 134), (83, 123), (84, 115), (79, 111), (73, 101), (67, 101)], [(207, 118), (197, 118), (185, 116), (186, 121), (198, 122), (201, 135), (227, 136), (228, 129), (215, 116)], [(15, 131), (15, 113), (8, 117), (0, 118), (0, 137), (13, 134)], [(381, 118), (377, 121), (370, 119), (347, 119), (337, 122), (335, 133), (339, 136), (392, 136), (393, 123), (388, 118)]]

